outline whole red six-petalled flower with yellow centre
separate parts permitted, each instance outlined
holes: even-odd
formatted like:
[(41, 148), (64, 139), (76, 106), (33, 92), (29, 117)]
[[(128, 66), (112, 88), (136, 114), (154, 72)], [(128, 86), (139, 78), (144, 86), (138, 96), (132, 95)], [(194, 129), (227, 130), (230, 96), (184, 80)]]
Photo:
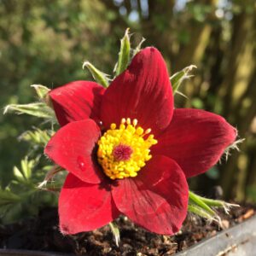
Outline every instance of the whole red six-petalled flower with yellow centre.
[(206, 172), (236, 138), (214, 113), (173, 108), (165, 61), (152, 47), (107, 90), (76, 81), (49, 96), (62, 127), (45, 154), (69, 172), (59, 199), (66, 234), (125, 214), (147, 230), (172, 235), (187, 213), (186, 177)]

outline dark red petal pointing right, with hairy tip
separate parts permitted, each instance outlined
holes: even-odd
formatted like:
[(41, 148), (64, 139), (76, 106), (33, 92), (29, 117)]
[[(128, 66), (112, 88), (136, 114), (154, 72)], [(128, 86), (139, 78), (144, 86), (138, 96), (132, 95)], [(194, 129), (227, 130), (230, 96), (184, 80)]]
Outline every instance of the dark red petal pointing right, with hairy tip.
[(221, 116), (199, 109), (175, 109), (172, 122), (152, 154), (164, 154), (177, 162), (186, 177), (215, 165), (224, 149), (236, 139), (236, 129)]

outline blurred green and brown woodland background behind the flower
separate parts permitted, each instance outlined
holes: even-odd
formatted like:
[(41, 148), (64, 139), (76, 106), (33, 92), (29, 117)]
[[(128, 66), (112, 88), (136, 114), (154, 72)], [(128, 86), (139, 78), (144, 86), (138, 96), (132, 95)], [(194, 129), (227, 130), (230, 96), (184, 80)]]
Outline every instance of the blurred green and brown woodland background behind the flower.
[[(31, 84), (49, 88), (92, 79), (92, 62), (113, 73), (119, 38), (154, 45), (170, 73), (195, 64), (177, 108), (204, 108), (237, 127), (241, 152), (190, 181), (195, 191), (220, 185), (225, 198), (256, 201), (256, 3), (254, 0), (0, 0), (0, 106), (36, 100)], [(0, 115), (0, 178), (27, 152), (18, 137), (38, 119)]]

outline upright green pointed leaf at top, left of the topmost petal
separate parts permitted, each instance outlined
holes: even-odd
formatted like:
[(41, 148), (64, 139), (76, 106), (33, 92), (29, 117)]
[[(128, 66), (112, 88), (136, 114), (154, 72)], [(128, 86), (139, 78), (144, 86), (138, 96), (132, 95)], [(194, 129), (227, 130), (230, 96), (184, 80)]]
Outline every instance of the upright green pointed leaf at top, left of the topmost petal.
[(129, 35), (129, 28), (127, 28), (125, 31), (124, 38), (121, 39), (119, 60), (115, 67), (116, 76), (122, 73), (123, 71), (125, 71), (125, 68), (128, 66), (130, 62), (130, 50), (131, 50), (130, 35)]

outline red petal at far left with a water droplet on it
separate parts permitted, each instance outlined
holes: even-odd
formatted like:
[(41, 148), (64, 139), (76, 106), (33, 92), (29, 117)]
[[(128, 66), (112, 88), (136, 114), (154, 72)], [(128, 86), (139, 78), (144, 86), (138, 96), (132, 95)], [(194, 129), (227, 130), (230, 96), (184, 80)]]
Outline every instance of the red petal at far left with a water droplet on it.
[(84, 182), (100, 183), (102, 172), (92, 159), (100, 134), (92, 119), (69, 123), (49, 140), (44, 153)]

